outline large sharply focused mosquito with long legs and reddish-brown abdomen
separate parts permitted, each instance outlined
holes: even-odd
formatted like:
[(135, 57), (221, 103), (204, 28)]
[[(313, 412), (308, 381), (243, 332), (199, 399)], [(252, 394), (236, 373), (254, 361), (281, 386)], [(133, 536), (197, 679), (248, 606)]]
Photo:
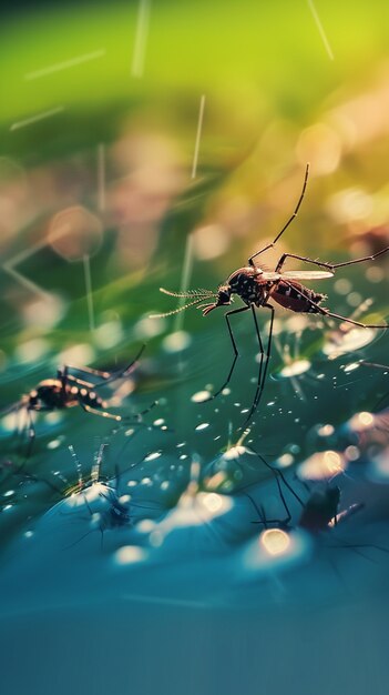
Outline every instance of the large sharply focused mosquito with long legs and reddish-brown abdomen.
[[(335, 271), (338, 268), (344, 268), (346, 265), (355, 265), (356, 263), (362, 263), (365, 261), (373, 261), (376, 258), (387, 253), (389, 251), (389, 246), (386, 246), (381, 251), (373, 253), (372, 255), (367, 255), (360, 259), (354, 259), (351, 261), (344, 261), (342, 263), (325, 263), (321, 261), (316, 261), (314, 259), (309, 259), (304, 255), (298, 255), (296, 253), (283, 253), (279, 258), (276, 268), (274, 271), (265, 270), (265, 268), (259, 268), (256, 264), (256, 259), (273, 249), (284, 232), (288, 229), (291, 222), (297, 216), (299, 208), (301, 205), (305, 191), (307, 188), (309, 173), (309, 164), (307, 164), (305, 179), (303, 184), (303, 190), (300, 197), (298, 199), (297, 205), (295, 208), (294, 213), (287, 220), (286, 224), (284, 224), (283, 229), (275, 236), (272, 243), (266, 244), (259, 251), (256, 251), (253, 255), (249, 256), (247, 261), (247, 265), (245, 268), (239, 268), (234, 271), (229, 278), (226, 280), (224, 284), (222, 284), (217, 292), (212, 290), (188, 290), (187, 292), (171, 292), (170, 290), (165, 290), (160, 288), (161, 292), (164, 294), (168, 294), (170, 296), (191, 299), (192, 301), (178, 309), (174, 309), (173, 311), (168, 311), (163, 314), (154, 314), (153, 318), (164, 318), (170, 316), (172, 314), (176, 314), (181, 311), (190, 306), (196, 306), (201, 309), (203, 312), (203, 316), (207, 316), (212, 311), (219, 306), (228, 306), (232, 304), (234, 300), (234, 294), (236, 294), (244, 303), (243, 306), (238, 309), (233, 309), (225, 313), (225, 320), (227, 323), (228, 334), (231, 339), (231, 343), (233, 346), (233, 362), (227, 374), (226, 380), (223, 382), (219, 389), (215, 391), (206, 401), (212, 401), (216, 396), (218, 396), (222, 391), (228, 385), (237, 357), (239, 356), (239, 352), (236, 345), (236, 341), (234, 338), (231, 318), (235, 314), (239, 314), (245, 311), (250, 311), (254, 325), (255, 333), (259, 346), (259, 367), (258, 367), (258, 377), (256, 391), (253, 400), (253, 404), (248, 411), (244, 425), (252, 420), (256, 409), (258, 407), (259, 401), (262, 399), (265, 381), (268, 370), (268, 363), (270, 359), (272, 352), (272, 336), (273, 336), (273, 325), (274, 325), (274, 314), (275, 308), (270, 303), (270, 301), (276, 302), (280, 306), (288, 309), (296, 313), (309, 313), (309, 314), (318, 314), (320, 316), (328, 316), (331, 319), (337, 319), (338, 321), (346, 321), (352, 325), (357, 325), (360, 328), (370, 328), (370, 329), (387, 329), (388, 325), (383, 324), (366, 324), (360, 321), (355, 321), (354, 319), (349, 319), (346, 316), (341, 316), (340, 314), (336, 314), (326, 306), (321, 306), (321, 302), (327, 299), (326, 294), (321, 294), (319, 292), (315, 292), (310, 288), (305, 286), (300, 281), (308, 280), (325, 280), (328, 278), (332, 278)], [(316, 268), (323, 270), (290, 270), (284, 271), (284, 264), (287, 259), (296, 259), (298, 261), (303, 261), (305, 263), (310, 263)], [(202, 302), (214, 299), (212, 303), (203, 304)], [(260, 336), (259, 326), (256, 316), (256, 309), (266, 309), (269, 312), (269, 331), (267, 338), (266, 350), (264, 349), (264, 343)], [(206, 402), (203, 401), (203, 402)]]

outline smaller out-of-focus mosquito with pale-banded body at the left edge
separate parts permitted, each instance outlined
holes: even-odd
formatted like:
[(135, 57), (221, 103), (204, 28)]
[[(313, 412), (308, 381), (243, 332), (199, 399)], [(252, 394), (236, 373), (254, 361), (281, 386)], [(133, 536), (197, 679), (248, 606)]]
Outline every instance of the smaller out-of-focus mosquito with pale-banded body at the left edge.
[[(129, 376), (141, 357), (145, 345), (142, 346), (136, 357), (124, 370), (119, 370), (117, 372), (102, 372), (89, 366), (75, 367), (66, 364), (58, 370), (55, 379), (41, 381), (30, 393), (22, 395), (20, 401), (6, 407), (0, 413), (0, 416), (12, 412), (24, 413), (25, 420), (23, 426), (21, 431), (20, 427), (18, 427), (18, 432), (20, 434), (28, 434), (28, 456), (31, 454), (35, 440), (33, 413), (53, 412), (79, 405), (86, 413), (121, 422), (123, 420), (121, 415), (108, 412), (106, 407), (109, 405), (106, 401), (99, 395), (96, 390), (113, 381)], [(73, 372), (80, 374), (82, 379), (73, 374)], [(93, 383), (91, 379), (94, 377), (98, 377), (100, 381)], [(143, 415), (144, 412), (139, 415)]]

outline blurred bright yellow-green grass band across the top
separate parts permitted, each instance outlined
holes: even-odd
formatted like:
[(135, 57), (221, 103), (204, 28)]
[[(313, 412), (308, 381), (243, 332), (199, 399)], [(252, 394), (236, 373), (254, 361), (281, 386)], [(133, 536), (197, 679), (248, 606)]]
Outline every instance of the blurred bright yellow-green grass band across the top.
[[(316, 7), (334, 61), (307, 2), (151, 3), (141, 80), (131, 74), (137, 2), (25, 10), (3, 21), (0, 122), (7, 129), (14, 121), (61, 104), (69, 111), (64, 119), (75, 112), (82, 118), (86, 112), (81, 130), (101, 134), (101, 119), (110, 127), (109, 105), (120, 110), (120, 104), (133, 108), (149, 101), (158, 104), (158, 114), (167, 110), (171, 118), (178, 109), (176, 124), (183, 128), (183, 93), (206, 92), (219, 110), (219, 132), (231, 132), (236, 124), (235, 137), (240, 142), (249, 134), (242, 132), (242, 121), (253, 132), (255, 120), (264, 112), (268, 118), (276, 113), (304, 123), (327, 94), (345, 89), (356, 75), (358, 83), (364, 83), (387, 57), (389, 9), (383, 0), (368, 6), (319, 0)], [(105, 54), (96, 60), (25, 80), (37, 70), (99, 50)], [(96, 110), (101, 110), (100, 117), (92, 117)], [(192, 127), (186, 110), (186, 124), (188, 117)], [(28, 140), (27, 131), (13, 133), (7, 144), (10, 151), (18, 149), (18, 138), (21, 147), (25, 144), (24, 137)], [(43, 140), (43, 131), (38, 130), (39, 140)]]

